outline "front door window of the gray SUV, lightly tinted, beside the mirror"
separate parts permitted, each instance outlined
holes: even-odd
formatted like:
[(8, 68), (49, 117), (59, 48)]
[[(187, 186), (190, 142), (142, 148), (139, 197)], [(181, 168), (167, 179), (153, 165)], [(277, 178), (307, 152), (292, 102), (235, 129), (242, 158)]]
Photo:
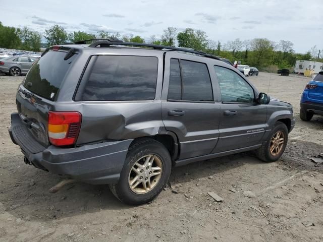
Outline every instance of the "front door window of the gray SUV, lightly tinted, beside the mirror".
[(222, 102), (252, 103), (255, 101), (252, 87), (237, 73), (224, 67), (214, 66), (216, 70)]

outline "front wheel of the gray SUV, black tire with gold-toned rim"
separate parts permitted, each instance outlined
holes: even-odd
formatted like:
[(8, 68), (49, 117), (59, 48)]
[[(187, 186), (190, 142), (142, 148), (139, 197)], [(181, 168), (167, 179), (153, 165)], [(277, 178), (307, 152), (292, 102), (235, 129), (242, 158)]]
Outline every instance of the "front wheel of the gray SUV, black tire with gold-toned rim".
[(287, 142), (287, 127), (284, 123), (277, 122), (269, 138), (256, 150), (256, 156), (264, 162), (277, 161), (283, 155)]

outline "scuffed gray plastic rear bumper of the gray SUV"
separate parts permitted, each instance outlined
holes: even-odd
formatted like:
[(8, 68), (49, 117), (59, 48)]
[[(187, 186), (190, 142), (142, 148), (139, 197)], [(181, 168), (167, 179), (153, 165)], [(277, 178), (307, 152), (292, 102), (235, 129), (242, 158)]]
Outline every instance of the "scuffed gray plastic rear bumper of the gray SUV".
[[(56, 174), (65, 174), (71, 178), (90, 184), (113, 184), (119, 179), (125, 163), (129, 145), (133, 140), (88, 144), (77, 148), (59, 148), (49, 146), (35, 148), (37, 142), (18, 113), (11, 115), (12, 126), (9, 134), (12, 141), (19, 145), (28, 161), (37, 168)], [(18, 128), (17, 128), (18, 127)], [(23, 130), (32, 146), (24, 144), (20, 138)], [(29, 133), (27, 133), (29, 132)], [(20, 137), (19, 137), (20, 136)]]

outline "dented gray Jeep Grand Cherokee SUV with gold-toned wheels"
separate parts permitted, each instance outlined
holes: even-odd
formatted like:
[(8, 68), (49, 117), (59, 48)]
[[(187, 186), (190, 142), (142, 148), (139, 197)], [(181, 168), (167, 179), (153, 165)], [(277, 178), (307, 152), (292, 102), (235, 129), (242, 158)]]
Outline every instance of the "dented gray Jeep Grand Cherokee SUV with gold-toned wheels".
[(118, 39), (49, 47), (16, 99), (9, 133), (25, 163), (133, 205), (173, 166), (250, 150), (276, 161), (295, 124), (291, 104), (216, 56)]

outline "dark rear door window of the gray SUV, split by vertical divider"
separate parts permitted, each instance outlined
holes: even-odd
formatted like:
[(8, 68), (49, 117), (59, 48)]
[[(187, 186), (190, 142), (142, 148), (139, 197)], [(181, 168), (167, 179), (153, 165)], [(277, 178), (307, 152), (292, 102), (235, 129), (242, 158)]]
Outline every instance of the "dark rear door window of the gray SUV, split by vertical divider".
[(198, 62), (171, 59), (168, 99), (213, 101), (207, 66)]

